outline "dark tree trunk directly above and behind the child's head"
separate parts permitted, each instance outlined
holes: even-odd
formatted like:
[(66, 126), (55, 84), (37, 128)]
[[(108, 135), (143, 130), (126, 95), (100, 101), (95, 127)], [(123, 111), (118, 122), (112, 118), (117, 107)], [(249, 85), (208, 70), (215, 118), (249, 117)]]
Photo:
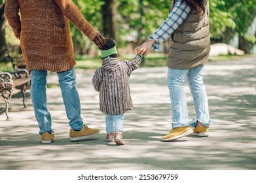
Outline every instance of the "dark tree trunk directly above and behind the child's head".
[(104, 0), (102, 6), (103, 36), (117, 41), (117, 0)]

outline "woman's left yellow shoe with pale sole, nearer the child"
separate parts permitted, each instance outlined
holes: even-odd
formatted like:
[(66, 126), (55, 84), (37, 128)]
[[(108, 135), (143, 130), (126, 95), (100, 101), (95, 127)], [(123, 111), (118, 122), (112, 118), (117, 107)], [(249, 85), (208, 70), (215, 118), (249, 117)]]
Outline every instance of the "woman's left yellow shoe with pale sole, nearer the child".
[(162, 141), (173, 141), (175, 139), (190, 135), (191, 133), (193, 133), (193, 130), (189, 126), (175, 127), (168, 135), (162, 137)]

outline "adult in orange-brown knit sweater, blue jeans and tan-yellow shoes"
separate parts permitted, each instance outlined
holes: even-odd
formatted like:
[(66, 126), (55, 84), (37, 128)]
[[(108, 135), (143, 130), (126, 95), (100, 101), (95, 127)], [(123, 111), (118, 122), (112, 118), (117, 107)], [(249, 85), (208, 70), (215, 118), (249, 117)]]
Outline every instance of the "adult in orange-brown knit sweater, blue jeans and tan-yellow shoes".
[(7, 0), (5, 16), (14, 35), (20, 39), (31, 76), (30, 94), (41, 142), (51, 143), (55, 140), (52, 119), (46, 107), (47, 71), (58, 74), (71, 127), (71, 141), (81, 141), (98, 135), (98, 129), (90, 129), (82, 122), (79, 94), (75, 86), (73, 67), (76, 62), (69, 21), (96, 46), (103, 46), (105, 38), (87, 22), (71, 0)]

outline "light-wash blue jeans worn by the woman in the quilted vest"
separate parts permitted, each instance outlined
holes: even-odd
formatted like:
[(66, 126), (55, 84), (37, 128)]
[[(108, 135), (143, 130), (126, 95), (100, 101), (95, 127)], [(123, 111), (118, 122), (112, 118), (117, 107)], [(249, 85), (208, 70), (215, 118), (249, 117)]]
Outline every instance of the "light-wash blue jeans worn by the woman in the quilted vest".
[[(209, 116), (208, 98), (203, 83), (204, 65), (192, 69), (170, 69), (168, 68), (168, 88), (172, 102), (172, 129), (175, 127), (194, 127), (198, 120), (204, 126), (209, 127), (213, 121)], [(196, 117), (189, 120), (187, 101), (183, 83), (187, 78), (189, 88), (194, 100)]]

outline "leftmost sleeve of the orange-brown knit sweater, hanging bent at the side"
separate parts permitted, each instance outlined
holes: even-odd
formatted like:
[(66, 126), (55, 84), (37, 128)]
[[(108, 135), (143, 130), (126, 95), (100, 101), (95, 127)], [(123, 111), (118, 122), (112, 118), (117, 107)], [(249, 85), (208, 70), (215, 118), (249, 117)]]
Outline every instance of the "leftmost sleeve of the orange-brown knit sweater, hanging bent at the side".
[(14, 31), (16, 38), (20, 39), (21, 22), (19, 12), (19, 5), (16, 0), (7, 0), (5, 3), (5, 17), (7, 18), (10, 27)]

